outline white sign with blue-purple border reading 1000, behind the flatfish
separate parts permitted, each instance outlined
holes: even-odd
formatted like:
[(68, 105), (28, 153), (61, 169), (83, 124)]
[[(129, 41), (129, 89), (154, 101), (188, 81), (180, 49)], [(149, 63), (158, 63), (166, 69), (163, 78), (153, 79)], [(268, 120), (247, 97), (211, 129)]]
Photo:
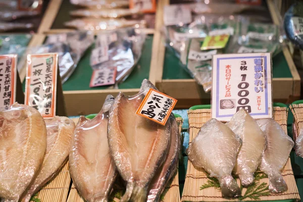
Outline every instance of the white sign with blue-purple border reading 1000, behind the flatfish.
[(240, 109), (253, 118), (272, 118), (269, 53), (213, 57), (212, 117), (229, 121)]

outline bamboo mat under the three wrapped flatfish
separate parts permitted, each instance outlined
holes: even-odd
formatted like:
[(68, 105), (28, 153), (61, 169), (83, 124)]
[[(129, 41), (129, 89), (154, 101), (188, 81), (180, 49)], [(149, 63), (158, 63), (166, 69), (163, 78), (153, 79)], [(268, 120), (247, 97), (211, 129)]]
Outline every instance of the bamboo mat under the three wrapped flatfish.
[[(189, 110), (189, 143), (197, 135), (200, 127), (211, 118), (211, 110)], [(274, 108), (274, 119), (282, 126), (285, 132), (287, 132), (287, 108)], [(268, 196), (260, 196), (260, 201), (264, 200), (283, 200), (283, 199), (295, 199), (300, 200), (298, 189), (296, 187), (295, 179), (288, 159), (286, 165), (282, 170), (284, 180), (288, 185), (288, 190), (283, 193), (270, 194)], [(206, 184), (209, 181), (204, 169), (195, 168), (188, 160), (187, 173), (185, 176), (184, 190), (182, 194), (182, 201), (239, 201), (238, 198), (223, 198), (221, 190), (214, 187), (205, 188), (200, 190), (200, 186)], [(267, 183), (268, 178), (263, 178), (259, 183)], [(240, 186), (240, 181), (237, 179), (237, 183)], [(246, 192), (246, 188), (242, 189), (242, 195)], [(245, 201), (256, 200), (251, 198), (243, 199)]]

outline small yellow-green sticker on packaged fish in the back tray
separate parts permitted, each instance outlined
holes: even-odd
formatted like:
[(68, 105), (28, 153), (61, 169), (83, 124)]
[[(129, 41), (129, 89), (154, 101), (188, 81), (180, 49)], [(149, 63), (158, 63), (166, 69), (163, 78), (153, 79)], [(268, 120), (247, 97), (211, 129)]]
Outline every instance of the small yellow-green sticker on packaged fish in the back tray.
[(228, 39), (229, 35), (207, 36), (203, 41), (201, 50), (224, 48)]

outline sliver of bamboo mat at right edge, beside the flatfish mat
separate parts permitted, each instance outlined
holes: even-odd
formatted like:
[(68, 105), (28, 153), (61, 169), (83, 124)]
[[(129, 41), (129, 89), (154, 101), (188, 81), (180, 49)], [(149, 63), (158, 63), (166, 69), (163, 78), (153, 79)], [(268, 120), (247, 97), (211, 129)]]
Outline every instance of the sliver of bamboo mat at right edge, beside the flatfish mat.
[(303, 128), (303, 104), (292, 104), (289, 108), (294, 117), (293, 139), (295, 140), (299, 135), (300, 130)]

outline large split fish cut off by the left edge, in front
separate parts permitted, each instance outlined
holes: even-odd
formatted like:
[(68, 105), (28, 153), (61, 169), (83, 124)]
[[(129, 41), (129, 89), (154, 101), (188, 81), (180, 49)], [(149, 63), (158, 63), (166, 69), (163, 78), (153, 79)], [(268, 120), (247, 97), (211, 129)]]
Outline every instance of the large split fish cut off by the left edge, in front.
[(42, 165), (46, 126), (32, 107), (12, 105), (0, 110), (0, 197), (19, 201)]

